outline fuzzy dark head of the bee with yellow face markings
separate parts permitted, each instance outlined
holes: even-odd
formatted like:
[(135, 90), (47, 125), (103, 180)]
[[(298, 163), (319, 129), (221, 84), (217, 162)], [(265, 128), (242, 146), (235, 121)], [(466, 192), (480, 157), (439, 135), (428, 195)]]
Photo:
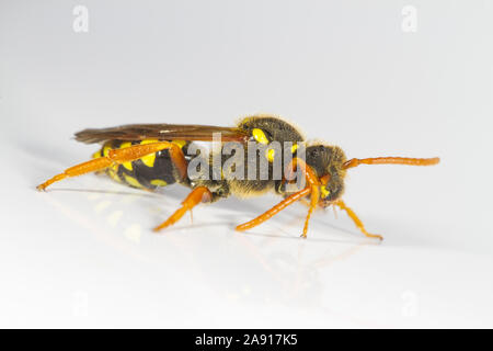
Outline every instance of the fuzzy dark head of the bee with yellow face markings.
[(343, 168), (345, 161), (346, 156), (337, 146), (318, 144), (307, 147), (306, 162), (313, 169), (322, 183), (320, 186), (320, 205), (322, 207), (342, 196), (346, 176), (346, 170)]

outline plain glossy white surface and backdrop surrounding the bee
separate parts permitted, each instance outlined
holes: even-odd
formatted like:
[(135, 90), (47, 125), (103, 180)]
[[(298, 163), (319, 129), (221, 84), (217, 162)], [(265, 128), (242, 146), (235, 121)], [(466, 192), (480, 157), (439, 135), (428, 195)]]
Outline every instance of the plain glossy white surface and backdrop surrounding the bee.
[[(488, 1), (0, 2), (1, 327), (493, 327), (492, 5)], [(401, 31), (404, 4), (417, 32)], [(186, 190), (87, 176), (73, 132), (230, 125), (271, 112), (349, 157), (433, 157), (351, 171), (342, 213), (298, 238), (295, 205), (230, 199), (150, 229)]]

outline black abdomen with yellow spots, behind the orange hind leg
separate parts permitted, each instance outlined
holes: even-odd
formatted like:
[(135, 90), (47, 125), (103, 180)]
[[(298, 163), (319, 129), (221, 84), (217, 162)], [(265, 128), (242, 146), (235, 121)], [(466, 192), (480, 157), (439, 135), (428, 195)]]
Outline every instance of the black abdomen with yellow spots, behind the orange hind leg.
[[(118, 141), (106, 143), (94, 158), (107, 156), (111, 149), (127, 148), (138, 144), (149, 144), (157, 140)], [(181, 147), (185, 143), (176, 141)], [(157, 186), (165, 186), (179, 181), (177, 170), (171, 160), (168, 150), (147, 155), (138, 160), (114, 165), (105, 170), (113, 180), (126, 185), (139, 189), (153, 190)]]

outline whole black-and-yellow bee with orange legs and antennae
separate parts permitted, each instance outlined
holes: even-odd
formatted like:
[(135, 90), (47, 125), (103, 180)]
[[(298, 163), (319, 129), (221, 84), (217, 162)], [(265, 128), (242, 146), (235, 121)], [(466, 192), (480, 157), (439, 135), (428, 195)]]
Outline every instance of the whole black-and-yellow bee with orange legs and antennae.
[[(268, 178), (254, 179), (227, 179), (223, 176), (213, 179), (191, 179), (187, 167), (191, 157), (187, 149), (194, 141), (211, 141), (213, 134), (220, 133), (221, 145), (226, 141), (237, 141), (246, 145), (246, 141), (267, 145), (272, 141), (290, 141), (294, 144), (289, 157), (293, 161), (288, 168), (300, 170), (306, 180), (306, 186), (288, 190), (289, 181), (272, 177), (272, 165), (277, 158), (285, 158), (280, 154), (259, 154), (257, 157), (268, 159)], [(176, 124), (136, 124), (103, 129), (84, 129), (76, 134), (76, 139), (83, 143), (103, 143), (100, 151), (93, 155), (93, 160), (80, 163), (55, 176), (37, 186), (45, 190), (51, 183), (67, 177), (76, 177), (93, 171), (105, 170), (113, 179), (134, 188), (153, 190), (180, 183), (192, 189), (190, 195), (183, 201), (182, 206), (163, 224), (154, 230), (162, 229), (174, 224), (187, 211), (200, 202), (214, 202), (229, 195), (245, 197), (260, 195), (266, 191), (274, 191), (284, 196), (276, 206), (237, 227), (238, 230), (250, 229), (286, 206), (298, 200), (308, 200), (309, 211), (305, 222), (302, 237), (307, 236), (308, 222), (316, 207), (334, 205), (344, 210), (354, 220), (355, 225), (368, 237), (381, 237), (366, 231), (363, 223), (356, 214), (341, 200), (344, 192), (344, 178), (346, 170), (359, 165), (410, 165), (431, 166), (438, 163), (438, 158), (419, 159), (402, 157), (380, 157), (367, 159), (347, 159), (341, 148), (323, 144), (306, 145), (302, 135), (287, 122), (270, 116), (256, 115), (243, 118), (236, 127), (217, 127), (200, 125)], [(306, 158), (297, 157), (297, 146), (306, 146)], [(195, 146), (195, 145), (194, 145)], [(246, 152), (246, 148), (244, 148)], [(217, 152), (213, 151), (211, 154)], [(221, 152), (222, 155), (222, 152)], [(262, 156), (260, 156), (262, 155)], [(211, 155), (199, 155), (206, 162), (211, 163)], [(225, 157), (221, 156), (221, 161)], [(248, 163), (244, 163), (245, 170)], [(291, 189), (291, 188), (290, 188)]]

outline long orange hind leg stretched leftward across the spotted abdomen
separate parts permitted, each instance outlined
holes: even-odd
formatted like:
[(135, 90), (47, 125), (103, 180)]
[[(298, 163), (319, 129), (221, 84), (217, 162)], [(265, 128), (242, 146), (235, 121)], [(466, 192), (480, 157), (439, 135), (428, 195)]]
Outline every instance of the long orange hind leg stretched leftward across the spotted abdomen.
[(134, 145), (124, 149), (110, 150), (107, 157), (100, 157), (66, 169), (62, 173), (55, 176), (43, 184), (37, 185), (37, 190), (45, 190), (47, 186), (68, 177), (82, 176), (89, 172), (105, 169), (114, 163), (135, 161), (146, 155), (154, 154), (164, 149), (170, 149), (170, 156), (182, 177), (186, 176), (186, 160), (182, 149), (169, 141), (159, 141), (145, 145)]

